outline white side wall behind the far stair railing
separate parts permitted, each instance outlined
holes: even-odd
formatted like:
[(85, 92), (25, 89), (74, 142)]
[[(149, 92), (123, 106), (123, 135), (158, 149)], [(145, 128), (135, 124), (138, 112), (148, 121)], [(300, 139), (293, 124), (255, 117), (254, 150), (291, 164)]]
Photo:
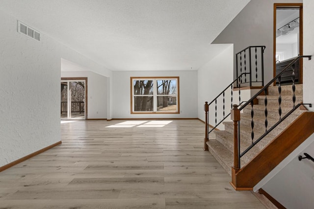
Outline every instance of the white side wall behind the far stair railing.
[[(233, 81), (233, 45), (221, 45), (224, 47), (220, 54), (211, 59), (202, 68), (198, 70), (198, 118), (205, 121), (204, 104), (211, 102), (219, 93), (221, 93)], [(229, 94), (230, 93), (230, 94)], [(225, 95), (226, 112), (231, 110), (231, 91)], [(222, 115), (222, 97), (217, 103), (217, 123), (223, 118)], [(215, 125), (215, 105), (209, 106), (209, 124)], [(228, 112), (228, 113), (229, 113)], [(218, 126), (220, 130), (224, 126)]]

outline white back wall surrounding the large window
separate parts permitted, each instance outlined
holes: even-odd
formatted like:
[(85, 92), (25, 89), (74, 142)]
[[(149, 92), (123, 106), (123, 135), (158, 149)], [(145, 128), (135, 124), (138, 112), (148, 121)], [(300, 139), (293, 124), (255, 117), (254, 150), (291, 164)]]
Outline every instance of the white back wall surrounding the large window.
[[(131, 77), (179, 76), (180, 114), (131, 114)], [(113, 118), (197, 118), (197, 71), (114, 71)]]

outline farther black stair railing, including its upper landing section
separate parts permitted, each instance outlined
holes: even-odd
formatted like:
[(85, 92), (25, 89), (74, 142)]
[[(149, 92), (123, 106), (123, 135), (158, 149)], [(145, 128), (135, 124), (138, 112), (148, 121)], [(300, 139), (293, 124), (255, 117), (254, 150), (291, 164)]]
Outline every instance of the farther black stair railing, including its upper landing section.
[[(238, 105), (242, 104), (241, 102), (241, 86), (249, 84), (252, 86), (252, 83), (259, 83), (260, 85), (264, 84), (264, 66), (263, 66), (263, 53), (266, 46), (248, 46), (245, 49), (235, 54), (236, 57), (236, 78), (231, 84), (229, 84), (221, 93), (219, 93), (211, 102), (205, 102), (204, 111), (205, 111), (205, 138), (204, 138), (204, 150), (208, 150), (208, 145), (206, 142), (209, 140), (209, 134), (215, 130), (218, 125), (220, 125), (228, 116), (230, 116), (230, 109), (225, 109), (226, 97), (230, 97), (231, 109), (233, 108), (234, 95), (233, 89), (239, 88), (238, 91)], [(248, 54), (248, 56), (247, 56)], [(254, 59), (254, 61), (251, 61)], [(252, 80), (252, 63), (255, 63), (255, 79)], [(229, 89), (229, 90), (228, 90)], [(228, 94), (228, 95), (227, 95)], [(220, 99), (221, 98), (221, 99)], [(219, 100), (219, 101), (218, 101)], [(217, 122), (217, 102), (222, 103), (222, 119)], [(228, 102), (229, 103), (229, 102)], [(214, 105), (215, 110), (215, 120), (214, 126), (209, 125), (209, 108), (210, 105)]]

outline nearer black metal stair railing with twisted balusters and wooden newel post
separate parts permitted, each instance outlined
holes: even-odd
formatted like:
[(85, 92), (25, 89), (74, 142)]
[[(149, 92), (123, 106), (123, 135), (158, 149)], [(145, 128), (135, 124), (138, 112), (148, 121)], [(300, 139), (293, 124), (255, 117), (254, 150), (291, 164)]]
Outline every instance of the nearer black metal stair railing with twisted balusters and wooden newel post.
[[(233, 109), (231, 110), (231, 119), (234, 121), (234, 166), (233, 166), (233, 172), (237, 172), (240, 168), (240, 159), (243, 155), (245, 155), (252, 147), (254, 147), (259, 141), (261, 141), (269, 132), (271, 132), (274, 128), (276, 128), (284, 119), (286, 119), (291, 113), (293, 113), (297, 108), (299, 108), (301, 105), (309, 105), (312, 107), (312, 104), (305, 104), (305, 103), (299, 103), (295, 104), (296, 101), (296, 96), (295, 96), (295, 63), (300, 59), (300, 58), (308, 58), (311, 60), (312, 56), (298, 56), (295, 58), (284, 70), (282, 70), (279, 74), (277, 74), (271, 81), (269, 81), (258, 93), (256, 93), (251, 99), (249, 99), (247, 102), (245, 102), (241, 107), (238, 108), (238, 105), (233, 105)], [(292, 81), (292, 102), (293, 102), (293, 107), (292, 109), (285, 115), (282, 116), (282, 109), (281, 109), (281, 102), (282, 102), (282, 97), (281, 97), (281, 76), (283, 73), (285, 73), (288, 69), (292, 70), (291, 72), (291, 81)], [(287, 76), (287, 75), (286, 75)], [(278, 116), (279, 120), (270, 128), (268, 128), (268, 121), (267, 121), (267, 88), (271, 86), (274, 81), (278, 81)], [(256, 97), (260, 95), (261, 93), (264, 93), (265, 98), (264, 98), (264, 116), (265, 116), (265, 122), (264, 122), (264, 127), (265, 127), (265, 132), (260, 136), (258, 139), (254, 140), (254, 101), (257, 99)], [(246, 106), (251, 105), (251, 140), (252, 143), (249, 147), (247, 147), (243, 152), (240, 151), (240, 111), (242, 111)]]

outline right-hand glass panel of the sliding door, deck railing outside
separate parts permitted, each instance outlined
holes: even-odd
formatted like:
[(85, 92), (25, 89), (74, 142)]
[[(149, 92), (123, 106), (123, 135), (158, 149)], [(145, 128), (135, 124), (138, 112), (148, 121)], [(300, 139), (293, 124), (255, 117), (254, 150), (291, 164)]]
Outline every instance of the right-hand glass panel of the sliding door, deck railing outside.
[(85, 117), (85, 82), (74, 81), (70, 83), (71, 114), (70, 117)]

